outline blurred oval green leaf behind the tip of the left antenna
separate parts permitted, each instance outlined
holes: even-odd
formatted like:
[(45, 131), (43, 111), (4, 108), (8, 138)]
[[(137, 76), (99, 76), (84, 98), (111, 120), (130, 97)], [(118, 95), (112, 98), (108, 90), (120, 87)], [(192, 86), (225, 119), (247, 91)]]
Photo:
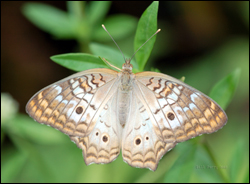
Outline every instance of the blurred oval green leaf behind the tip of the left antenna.
[[(107, 28), (114, 40), (118, 40), (130, 35), (135, 31), (137, 19), (129, 15), (113, 15), (104, 20), (103, 24)], [(93, 30), (92, 38), (96, 41), (111, 41), (109, 35), (101, 25), (97, 25)]]

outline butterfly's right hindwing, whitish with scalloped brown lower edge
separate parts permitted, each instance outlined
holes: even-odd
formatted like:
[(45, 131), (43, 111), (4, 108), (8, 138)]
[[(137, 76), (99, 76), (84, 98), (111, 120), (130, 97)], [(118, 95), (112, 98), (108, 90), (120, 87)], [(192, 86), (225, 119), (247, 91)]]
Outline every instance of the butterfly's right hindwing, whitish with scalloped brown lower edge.
[(132, 91), (131, 111), (123, 130), (123, 160), (133, 167), (156, 170), (161, 157), (175, 146), (159, 139), (153, 122), (140, 98), (140, 92)]

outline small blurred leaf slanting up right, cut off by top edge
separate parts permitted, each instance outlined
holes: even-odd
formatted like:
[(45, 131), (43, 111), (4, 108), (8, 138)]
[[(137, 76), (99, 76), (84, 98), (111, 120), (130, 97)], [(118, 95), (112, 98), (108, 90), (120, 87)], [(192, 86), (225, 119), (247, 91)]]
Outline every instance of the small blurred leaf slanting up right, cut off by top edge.
[(111, 1), (90, 1), (86, 7), (86, 18), (88, 22), (95, 25), (102, 21), (106, 16), (110, 5)]

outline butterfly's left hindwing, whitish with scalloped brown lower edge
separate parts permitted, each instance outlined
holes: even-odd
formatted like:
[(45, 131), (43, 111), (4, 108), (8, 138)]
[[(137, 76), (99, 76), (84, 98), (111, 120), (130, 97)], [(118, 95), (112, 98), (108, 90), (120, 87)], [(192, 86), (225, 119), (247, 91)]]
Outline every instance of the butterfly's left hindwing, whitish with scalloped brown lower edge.
[[(117, 88), (114, 90), (117, 91)], [(117, 92), (101, 110), (89, 136), (70, 136), (71, 140), (83, 150), (86, 165), (112, 162), (120, 153), (121, 126), (118, 123), (118, 116), (116, 116), (116, 104)]]

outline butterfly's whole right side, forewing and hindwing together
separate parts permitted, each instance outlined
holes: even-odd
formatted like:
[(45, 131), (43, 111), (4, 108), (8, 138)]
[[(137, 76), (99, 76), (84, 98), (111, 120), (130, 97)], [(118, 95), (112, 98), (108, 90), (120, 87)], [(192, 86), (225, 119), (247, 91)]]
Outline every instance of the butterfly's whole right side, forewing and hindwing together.
[(122, 155), (134, 167), (156, 170), (178, 142), (215, 132), (227, 122), (216, 102), (168, 75), (137, 73), (131, 98)]

